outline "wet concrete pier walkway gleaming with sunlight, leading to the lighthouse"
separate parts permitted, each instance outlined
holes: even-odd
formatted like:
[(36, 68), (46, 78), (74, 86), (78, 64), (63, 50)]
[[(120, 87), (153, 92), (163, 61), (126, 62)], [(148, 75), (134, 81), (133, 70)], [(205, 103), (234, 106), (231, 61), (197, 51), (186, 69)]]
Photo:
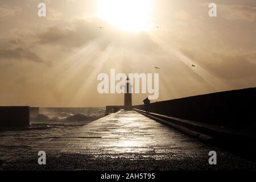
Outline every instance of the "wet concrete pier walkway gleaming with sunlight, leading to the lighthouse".
[[(45, 151), (47, 164), (38, 164)], [(209, 165), (209, 151), (217, 165)], [(1, 169), (217, 170), (256, 169), (256, 163), (210, 147), (135, 111), (110, 114), (7, 160)]]

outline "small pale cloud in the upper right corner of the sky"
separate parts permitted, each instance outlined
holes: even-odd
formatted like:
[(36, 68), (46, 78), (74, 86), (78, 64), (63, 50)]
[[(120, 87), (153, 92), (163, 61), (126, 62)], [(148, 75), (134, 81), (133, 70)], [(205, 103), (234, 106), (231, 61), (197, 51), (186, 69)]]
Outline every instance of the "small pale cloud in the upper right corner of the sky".
[(254, 22), (256, 19), (256, 7), (242, 5), (220, 5), (222, 16), (228, 20), (245, 20)]

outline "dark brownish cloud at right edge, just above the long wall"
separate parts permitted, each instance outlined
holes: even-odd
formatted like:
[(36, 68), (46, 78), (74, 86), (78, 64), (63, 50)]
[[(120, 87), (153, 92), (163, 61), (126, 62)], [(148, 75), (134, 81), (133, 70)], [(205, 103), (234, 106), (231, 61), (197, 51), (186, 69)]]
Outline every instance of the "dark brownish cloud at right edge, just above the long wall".
[(256, 51), (181, 49), (196, 64), (226, 80), (256, 77)]

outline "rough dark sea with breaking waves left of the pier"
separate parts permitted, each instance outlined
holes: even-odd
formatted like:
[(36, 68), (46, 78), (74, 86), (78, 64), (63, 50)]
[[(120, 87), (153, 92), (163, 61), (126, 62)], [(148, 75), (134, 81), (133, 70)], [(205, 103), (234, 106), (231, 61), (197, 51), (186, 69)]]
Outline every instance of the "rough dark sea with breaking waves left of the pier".
[(0, 129), (0, 163), (104, 117), (105, 107), (40, 107), (30, 126)]

